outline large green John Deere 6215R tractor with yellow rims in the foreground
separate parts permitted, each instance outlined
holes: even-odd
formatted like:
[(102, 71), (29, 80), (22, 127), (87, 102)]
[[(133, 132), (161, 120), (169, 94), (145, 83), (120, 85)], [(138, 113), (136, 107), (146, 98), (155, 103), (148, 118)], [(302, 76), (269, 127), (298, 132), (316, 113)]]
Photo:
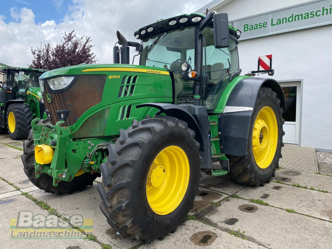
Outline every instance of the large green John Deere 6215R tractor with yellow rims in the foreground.
[(44, 73), (48, 119), (32, 121), (25, 173), (60, 194), (101, 172), (108, 223), (147, 243), (186, 220), (201, 172), (264, 186), (279, 167), (285, 98), (277, 81), (240, 75), (240, 35), (225, 13), (184, 14), (139, 29), (140, 43), (117, 32), (114, 64)]

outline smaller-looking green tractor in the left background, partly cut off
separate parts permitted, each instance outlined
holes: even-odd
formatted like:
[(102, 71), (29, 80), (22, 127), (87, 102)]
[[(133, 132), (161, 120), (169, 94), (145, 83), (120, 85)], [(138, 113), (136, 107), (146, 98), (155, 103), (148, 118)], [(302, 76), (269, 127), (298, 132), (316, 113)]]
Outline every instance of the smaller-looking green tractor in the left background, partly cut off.
[(46, 118), (38, 78), (46, 70), (0, 63), (0, 134), (26, 139), (34, 118)]

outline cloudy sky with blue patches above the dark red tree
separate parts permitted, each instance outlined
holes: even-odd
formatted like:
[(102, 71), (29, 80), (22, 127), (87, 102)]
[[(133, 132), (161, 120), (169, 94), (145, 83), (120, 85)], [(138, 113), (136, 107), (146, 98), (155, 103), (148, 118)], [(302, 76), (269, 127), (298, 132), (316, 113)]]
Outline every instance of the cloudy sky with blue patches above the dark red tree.
[[(112, 63), (119, 30), (129, 41), (139, 28), (183, 13), (192, 13), (210, 0), (12, 0), (0, 1), (0, 62), (27, 67), (31, 47), (61, 41), (75, 30), (90, 36), (97, 63)], [(133, 52), (131, 51), (131, 56)]]

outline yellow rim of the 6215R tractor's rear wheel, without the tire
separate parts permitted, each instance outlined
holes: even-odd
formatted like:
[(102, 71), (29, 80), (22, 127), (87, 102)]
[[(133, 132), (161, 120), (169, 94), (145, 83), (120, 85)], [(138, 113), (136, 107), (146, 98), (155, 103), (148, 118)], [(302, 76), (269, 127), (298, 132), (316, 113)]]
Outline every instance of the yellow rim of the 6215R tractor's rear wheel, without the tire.
[(256, 118), (252, 133), (252, 151), (261, 169), (269, 167), (277, 150), (278, 123), (271, 107), (263, 107)]

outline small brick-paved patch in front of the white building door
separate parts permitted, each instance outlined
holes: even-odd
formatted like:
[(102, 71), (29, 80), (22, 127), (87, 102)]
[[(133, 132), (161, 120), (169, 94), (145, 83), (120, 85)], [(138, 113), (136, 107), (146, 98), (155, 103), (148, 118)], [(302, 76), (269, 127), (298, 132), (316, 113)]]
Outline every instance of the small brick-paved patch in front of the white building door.
[(314, 148), (285, 143), (281, 152), (283, 158), (279, 161), (280, 166), (303, 172), (316, 173), (318, 171)]

